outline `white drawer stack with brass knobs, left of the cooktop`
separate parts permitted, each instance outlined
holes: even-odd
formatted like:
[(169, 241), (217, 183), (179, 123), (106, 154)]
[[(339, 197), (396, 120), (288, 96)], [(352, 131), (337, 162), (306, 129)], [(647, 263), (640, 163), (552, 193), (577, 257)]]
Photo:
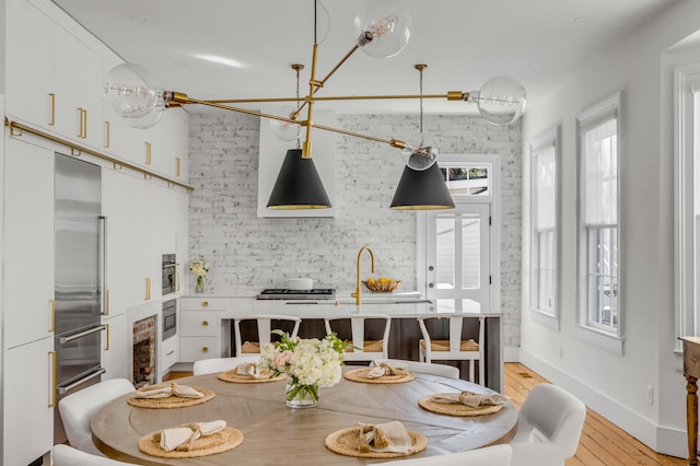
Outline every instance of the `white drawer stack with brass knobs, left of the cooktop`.
[(221, 315), (230, 312), (225, 298), (182, 298), (179, 307), (179, 360), (222, 358), (231, 353), (228, 341), (230, 325), (222, 325)]

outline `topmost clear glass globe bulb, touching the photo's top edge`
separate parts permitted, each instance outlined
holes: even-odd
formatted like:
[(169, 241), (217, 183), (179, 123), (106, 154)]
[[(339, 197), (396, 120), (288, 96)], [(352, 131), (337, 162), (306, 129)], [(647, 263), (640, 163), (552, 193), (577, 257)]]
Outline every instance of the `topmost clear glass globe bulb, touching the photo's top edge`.
[(354, 15), (352, 32), (360, 49), (372, 57), (398, 55), (408, 45), (411, 18), (396, 0), (369, 0)]

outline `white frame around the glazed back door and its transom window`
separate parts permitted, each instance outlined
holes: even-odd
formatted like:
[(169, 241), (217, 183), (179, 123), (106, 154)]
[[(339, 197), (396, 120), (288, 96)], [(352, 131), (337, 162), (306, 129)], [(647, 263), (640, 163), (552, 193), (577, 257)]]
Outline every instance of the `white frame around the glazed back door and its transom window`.
[[(455, 203), (489, 203), (491, 210), (491, 311), (501, 312), (501, 159), (493, 154), (440, 154), (439, 165), (489, 165), (488, 196), (455, 196)], [(417, 288), (423, 296), (427, 295), (427, 214), (418, 211), (416, 215), (416, 257)]]

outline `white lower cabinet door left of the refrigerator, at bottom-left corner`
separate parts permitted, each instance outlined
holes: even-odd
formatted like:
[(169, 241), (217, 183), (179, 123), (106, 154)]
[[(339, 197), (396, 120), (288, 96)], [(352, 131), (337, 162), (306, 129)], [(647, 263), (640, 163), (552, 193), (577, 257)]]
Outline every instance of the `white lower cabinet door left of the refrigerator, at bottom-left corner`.
[(52, 351), (52, 336), (5, 350), (4, 465), (27, 465), (54, 445)]

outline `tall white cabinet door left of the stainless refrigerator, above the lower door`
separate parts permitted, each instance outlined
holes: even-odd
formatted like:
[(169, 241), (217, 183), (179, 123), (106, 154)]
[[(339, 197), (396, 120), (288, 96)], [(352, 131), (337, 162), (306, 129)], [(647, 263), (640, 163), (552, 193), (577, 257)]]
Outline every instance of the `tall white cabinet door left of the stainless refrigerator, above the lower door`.
[(54, 152), (7, 138), (4, 170), (4, 345), (12, 348), (52, 336)]

